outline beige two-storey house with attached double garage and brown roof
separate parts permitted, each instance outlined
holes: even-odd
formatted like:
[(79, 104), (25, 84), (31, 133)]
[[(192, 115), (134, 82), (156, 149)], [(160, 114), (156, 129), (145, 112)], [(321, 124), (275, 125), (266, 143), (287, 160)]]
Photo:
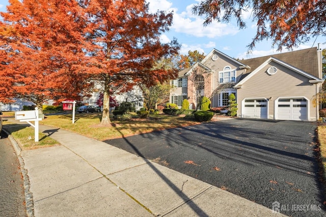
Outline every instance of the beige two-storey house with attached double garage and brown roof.
[[(188, 99), (196, 109), (195, 84), (190, 78), (201, 70), (201, 95), (210, 98), (211, 107), (228, 106), (233, 93), (238, 117), (316, 121), (316, 94), (323, 83), (321, 59), (317, 47), (248, 60), (235, 60), (213, 49), (200, 63), (179, 72), (171, 83), (170, 102), (181, 106), (182, 100)], [(226, 84), (231, 85), (218, 90)]]

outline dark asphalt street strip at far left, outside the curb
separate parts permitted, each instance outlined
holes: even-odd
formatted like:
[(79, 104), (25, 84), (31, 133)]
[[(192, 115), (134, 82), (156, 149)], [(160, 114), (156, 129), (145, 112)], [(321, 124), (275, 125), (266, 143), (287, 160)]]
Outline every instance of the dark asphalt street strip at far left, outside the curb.
[(27, 216), (19, 162), (7, 135), (0, 139), (0, 216)]

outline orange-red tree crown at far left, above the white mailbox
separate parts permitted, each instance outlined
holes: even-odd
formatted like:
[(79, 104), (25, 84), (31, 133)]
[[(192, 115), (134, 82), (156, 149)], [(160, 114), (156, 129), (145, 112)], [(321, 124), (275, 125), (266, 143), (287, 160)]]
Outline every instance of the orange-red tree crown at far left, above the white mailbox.
[(0, 13), (0, 100), (21, 98), (40, 110), (50, 99), (78, 99), (90, 83), (76, 1), (10, 0)]

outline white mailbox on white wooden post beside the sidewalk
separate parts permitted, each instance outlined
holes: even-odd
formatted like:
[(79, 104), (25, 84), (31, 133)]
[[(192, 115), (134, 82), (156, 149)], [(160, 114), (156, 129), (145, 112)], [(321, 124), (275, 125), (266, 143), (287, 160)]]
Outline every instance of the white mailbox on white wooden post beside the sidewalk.
[[(20, 122), (25, 121), (29, 123), (32, 127), (34, 127), (34, 135), (35, 135), (35, 142), (39, 142), (39, 121), (42, 118), (39, 118), (39, 111), (38, 107), (35, 107), (35, 111), (16, 111), (15, 112), (15, 119), (19, 120)], [(32, 124), (30, 121), (34, 121)]]

